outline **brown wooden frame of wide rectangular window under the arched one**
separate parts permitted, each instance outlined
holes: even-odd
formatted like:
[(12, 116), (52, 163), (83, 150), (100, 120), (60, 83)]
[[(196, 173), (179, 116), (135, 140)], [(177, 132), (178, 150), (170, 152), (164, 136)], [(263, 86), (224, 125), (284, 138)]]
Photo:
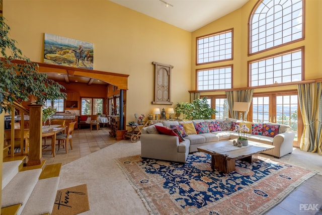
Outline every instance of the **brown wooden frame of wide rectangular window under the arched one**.
[[(260, 85), (260, 86), (252, 86), (251, 83), (252, 83), (252, 79), (251, 79), (251, 63), (253, 62), (256, 62), (256, 61), (261, 61), (261, 60), (264, 60), (264, 59), (268, 59), (268, 58), (273, 58), (273, 57), (277, 57), (277, 56), (282, 56), (282, 55), (285, 55), (287, 53), (292, 53), (292, 52), (296, 52), (296, 51), (301, 51), (301, 81), (296, 81), (296, 82), (286, 82), (286, 83), (274, 83), (274, 84), (268, 84), (268, 85)], [(291, 49), (291, 50), (286, 50), (286, 51), (283, 51), (283, 52), (279, 52), (279, 53), (275, 53), (275, 54), (271, 54), (271, 55), (268, 55), (268, 56), (264, 56), (264, 57), (260, 57), (260, 58), (257, 58), (257, 59), (253, 59), (253, 60), (249, 60), (247, 62), (247, 69), (248, 69), (248, 87), (251, 87), (251, 88), (267, 88), (267, 87), (276, 87), (276, 86), (279, 86), (279, 85), (283, 85), (283, 86), (286, 86), (286, 85), (294, 85), (294, 84), (298, 84), (298, 83), (301, 83), (302, 81), (304, 81), (304, 68), (305, 68), (305, 59), (304, 59), (304, 56), (305, 56), (305, 50), (304, 50), (304, 46), (301, 46), (301, 47), (298, 47), (298, 48), (294, 48), (294, 49)], [(274, 65), (274, 64), (273, 64)], [(283, 77), (283, 76), (282, 76)]]

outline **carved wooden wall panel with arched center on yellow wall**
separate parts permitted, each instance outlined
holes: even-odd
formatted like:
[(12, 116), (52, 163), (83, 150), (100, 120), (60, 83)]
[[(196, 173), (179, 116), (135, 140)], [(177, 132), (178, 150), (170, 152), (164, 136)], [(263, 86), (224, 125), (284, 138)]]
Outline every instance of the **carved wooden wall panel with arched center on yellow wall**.
[(152, 62), (154, 69), (154, 101), (152, 104), (172, 105), (171, 102), (171, 69), (172, 65)]

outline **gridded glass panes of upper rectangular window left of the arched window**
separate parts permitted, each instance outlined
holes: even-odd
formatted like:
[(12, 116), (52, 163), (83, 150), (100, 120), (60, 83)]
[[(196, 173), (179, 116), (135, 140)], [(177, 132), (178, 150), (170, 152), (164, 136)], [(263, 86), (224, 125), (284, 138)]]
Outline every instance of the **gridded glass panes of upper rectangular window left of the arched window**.
[(197, 64), (232, 59), (232, 30), (197, 38)]

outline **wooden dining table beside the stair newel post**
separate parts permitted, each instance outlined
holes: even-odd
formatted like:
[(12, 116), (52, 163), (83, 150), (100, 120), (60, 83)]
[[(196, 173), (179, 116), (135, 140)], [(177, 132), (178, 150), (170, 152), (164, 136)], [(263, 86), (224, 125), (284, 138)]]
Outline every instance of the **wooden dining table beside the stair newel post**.
[(49, 151), (55, 157), (56, 134), (59, 132), (65, 133), (67, 126), (64, 125), (45, 125), (42, 126), (42, 137), (51, 137), (51, 149), (46, 150), (49, 145), (43, 145), (43, 152)]

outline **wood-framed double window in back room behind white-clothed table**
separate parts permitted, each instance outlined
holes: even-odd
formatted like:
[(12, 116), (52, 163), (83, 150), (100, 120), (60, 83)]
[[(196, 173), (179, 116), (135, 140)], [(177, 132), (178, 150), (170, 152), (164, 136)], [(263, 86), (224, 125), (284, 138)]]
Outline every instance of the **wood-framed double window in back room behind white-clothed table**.
[(103, 113), (102, 98), (82, 98), (82, 115)]

